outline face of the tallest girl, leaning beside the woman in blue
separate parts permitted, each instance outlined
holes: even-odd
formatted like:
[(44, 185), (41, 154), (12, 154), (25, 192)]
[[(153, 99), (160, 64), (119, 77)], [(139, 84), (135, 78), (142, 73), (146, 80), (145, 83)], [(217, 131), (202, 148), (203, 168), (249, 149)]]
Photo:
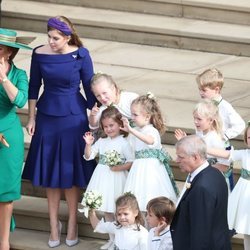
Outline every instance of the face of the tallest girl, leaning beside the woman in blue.
[(92, 91), (102, 105), (109, 106), (116, 102), (116, 89), (106, 80), (94, 85)]

